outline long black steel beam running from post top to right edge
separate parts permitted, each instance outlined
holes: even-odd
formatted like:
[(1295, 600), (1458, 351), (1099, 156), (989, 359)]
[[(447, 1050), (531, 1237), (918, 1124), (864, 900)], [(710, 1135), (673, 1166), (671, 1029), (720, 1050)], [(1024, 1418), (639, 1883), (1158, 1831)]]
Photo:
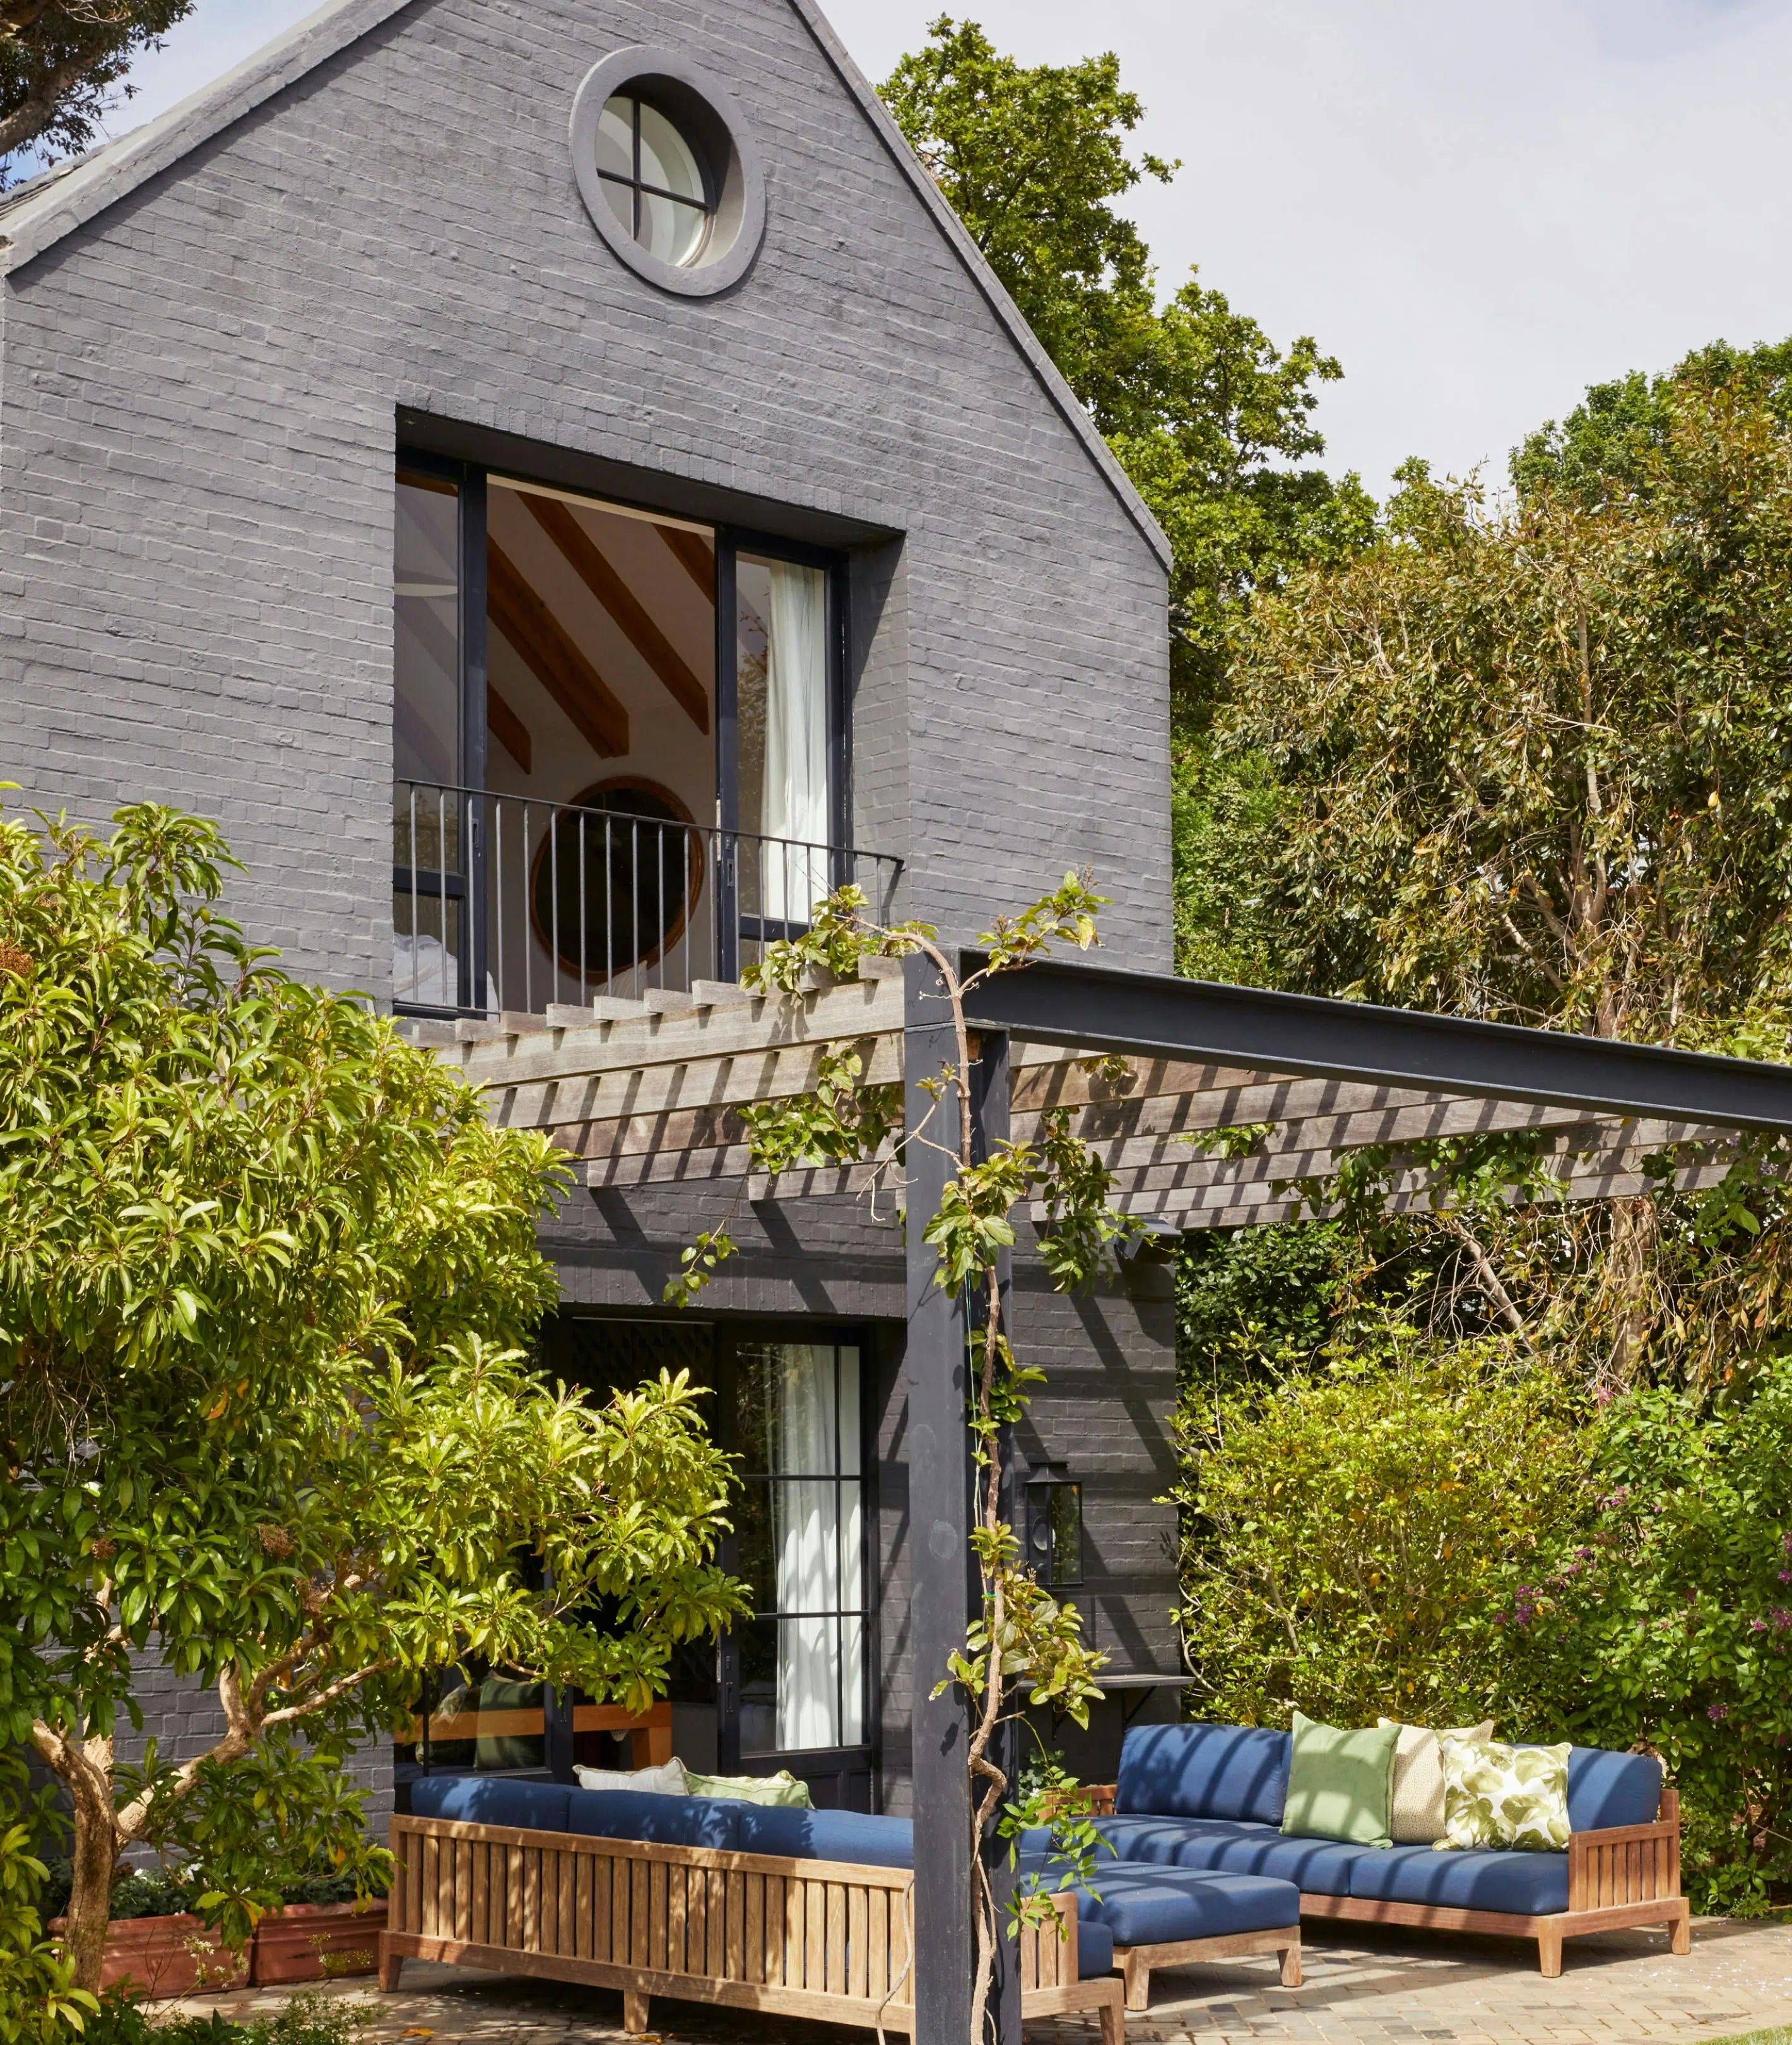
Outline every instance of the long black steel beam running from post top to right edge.
[[(960, 953), (962, 973), (981, 963)], [(1741, 1057), (1058, 961), (995, 973), (966, 1006), (973, 1029), (1091, 1053), (1792, 1131), (1792, 1065)]]

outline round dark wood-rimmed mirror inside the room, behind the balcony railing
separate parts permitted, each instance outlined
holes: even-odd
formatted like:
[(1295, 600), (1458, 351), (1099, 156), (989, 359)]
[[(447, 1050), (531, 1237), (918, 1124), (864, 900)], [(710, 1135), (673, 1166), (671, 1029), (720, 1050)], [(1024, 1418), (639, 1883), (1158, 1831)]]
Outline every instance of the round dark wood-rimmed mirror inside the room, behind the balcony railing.
[(601, 781), (554, 816), (529, 863), (541, 949), (586, 986), (652, 965), (703, 890), (703, 834), (668, 789)]

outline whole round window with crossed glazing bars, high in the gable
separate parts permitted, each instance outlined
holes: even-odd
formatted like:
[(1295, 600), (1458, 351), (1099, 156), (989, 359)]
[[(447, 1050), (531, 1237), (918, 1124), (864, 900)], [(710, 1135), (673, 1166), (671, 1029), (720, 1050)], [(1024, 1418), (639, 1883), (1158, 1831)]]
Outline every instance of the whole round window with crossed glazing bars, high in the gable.
[(593, 65), (572, 102), (572, 168), (603, 239), (666, 290), (723, 290), (758, 252), (758, 153), (727, 94), (670, 51)]

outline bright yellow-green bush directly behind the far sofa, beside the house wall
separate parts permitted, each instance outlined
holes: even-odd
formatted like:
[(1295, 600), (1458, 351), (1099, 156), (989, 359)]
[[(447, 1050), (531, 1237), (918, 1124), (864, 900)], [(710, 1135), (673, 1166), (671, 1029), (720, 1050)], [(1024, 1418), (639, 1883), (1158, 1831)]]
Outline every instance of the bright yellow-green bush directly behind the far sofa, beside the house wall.
[(1199, 1716), (1457, 1726), (1494, 1706), (1494, 1618), (1577, 1528), (1592, 1444), (1553, 1378), (1396, 1327), (1189, 1401), (1177, 1448)]

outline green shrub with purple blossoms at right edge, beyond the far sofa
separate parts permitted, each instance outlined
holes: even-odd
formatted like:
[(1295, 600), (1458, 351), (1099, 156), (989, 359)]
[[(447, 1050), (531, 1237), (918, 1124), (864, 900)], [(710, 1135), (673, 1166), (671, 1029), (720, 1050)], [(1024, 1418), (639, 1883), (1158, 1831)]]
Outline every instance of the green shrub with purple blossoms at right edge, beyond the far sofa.
[(1792, 1360), (1714, 1409), (1606, 1413), (1598, 1511), (1502, 1614), (1512, 1685), (1592, 1746), (1645, 1744), (1686, 1804), (1700, 1906), (1792, 1879)]

